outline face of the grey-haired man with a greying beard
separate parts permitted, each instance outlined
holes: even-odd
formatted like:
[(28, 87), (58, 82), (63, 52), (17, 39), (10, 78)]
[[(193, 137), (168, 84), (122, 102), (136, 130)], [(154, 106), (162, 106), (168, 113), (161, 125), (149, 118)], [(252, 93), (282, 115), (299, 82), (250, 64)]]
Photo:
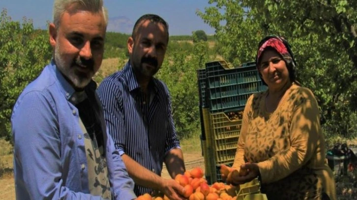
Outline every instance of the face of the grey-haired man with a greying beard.
[(50, 43), (59, 71), (75, 90), (83, 90), (98, 71), (104, 51), (106, 25), (102, 12), (70, 7), (59, 27), (50, 25)]

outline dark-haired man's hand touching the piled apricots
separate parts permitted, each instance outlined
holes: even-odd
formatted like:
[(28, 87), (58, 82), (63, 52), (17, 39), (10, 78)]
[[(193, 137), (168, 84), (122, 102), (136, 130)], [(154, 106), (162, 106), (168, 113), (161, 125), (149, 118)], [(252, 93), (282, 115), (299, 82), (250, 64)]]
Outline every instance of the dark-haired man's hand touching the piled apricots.
[(170, 200), (184, 200), (185, 189), (174, 179), (163, 179), (161, 192)]

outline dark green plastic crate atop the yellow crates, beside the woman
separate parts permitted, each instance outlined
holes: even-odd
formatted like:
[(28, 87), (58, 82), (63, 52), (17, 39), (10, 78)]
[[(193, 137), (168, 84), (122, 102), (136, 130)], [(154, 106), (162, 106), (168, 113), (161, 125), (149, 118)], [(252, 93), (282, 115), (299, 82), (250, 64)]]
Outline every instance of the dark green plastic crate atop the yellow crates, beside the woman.
[(267, 89), (255, 66), (255, 62), (249, 62), (232, 68), (224, 60), (206, 63), (206, 95), (211, 113), (244, 109), (252, 94)]

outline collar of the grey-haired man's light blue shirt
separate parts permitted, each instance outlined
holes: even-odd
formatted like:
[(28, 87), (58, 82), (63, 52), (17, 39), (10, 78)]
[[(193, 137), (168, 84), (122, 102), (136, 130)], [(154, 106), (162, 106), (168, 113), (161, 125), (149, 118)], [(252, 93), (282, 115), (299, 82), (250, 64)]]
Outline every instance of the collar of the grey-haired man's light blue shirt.
[[(52, 72), (55, 73), (56, 78), (58, 79), (59, 82), (60, 91), (67, 100), (71, 101), (74, 104), (77, 104), (87, 98), (87, 95), (84, 91), (76, 92), (74, 90), (72, 85), (69, 84), (69, 82), (64, 78), (62, 73), (59, 71), (53, 59), (51, 60), (50, 69)], [(85, 89), (87, 88), (94, 91), (96, 88), (96, 83), (93, 80), (91, 80)]]

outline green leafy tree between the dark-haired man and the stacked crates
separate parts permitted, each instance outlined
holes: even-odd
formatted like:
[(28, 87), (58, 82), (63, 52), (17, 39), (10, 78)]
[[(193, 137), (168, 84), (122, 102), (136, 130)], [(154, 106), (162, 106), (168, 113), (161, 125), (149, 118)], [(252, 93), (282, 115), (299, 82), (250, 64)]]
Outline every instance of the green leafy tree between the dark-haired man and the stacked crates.
[[(171, 43), (170, 45), (178, 45)], [(172, 113), (180, 138), (188, 138), (199, 130), (199, 95), (197, 69), (203, 68), (210, 57), (207, 42), (197, 42), (193, 48), (184, 44), (170, 48), (165, 61), (156, 75), (169, 88), (172, 100)], [(192, 46), (192, 44), (190, 44)]]

